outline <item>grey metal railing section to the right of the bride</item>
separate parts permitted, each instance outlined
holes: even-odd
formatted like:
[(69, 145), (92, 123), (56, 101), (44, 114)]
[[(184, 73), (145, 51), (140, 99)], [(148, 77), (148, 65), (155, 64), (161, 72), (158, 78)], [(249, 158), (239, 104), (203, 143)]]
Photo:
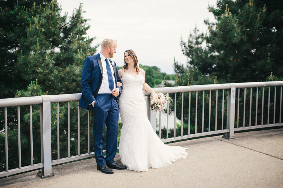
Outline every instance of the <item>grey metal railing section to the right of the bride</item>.
[[(219, 133), (226, 133), (225, 138), (227, 139), (232, 139), (234, 138), (234, 132), (236, 131), (242, 131), (242, 130), (249, 130), (249, 129), (256, 129), (256, 128), (263, 128), (263, 127), (273, 127), (273, 126), (282, 126), (283, 123), (281, 123), (281, 116), (282, 116), (282, 85), (283, 85), (283, 81), (277, 81), (277, 82), (255, 82), (255, 83), (225, 83), (225, 84), (210, 84), (210, 85), (194, 85), (194, 86), (180, 86), (180, 87), (167, 87), (167, 88), (155, 88), (154, 90), (156, 92), (161, 92), (161, 93), (172, 93), (174, 94), (174, 118), (175, 118), (175, 123), (174, 123), (174, 136), (173, 137), (168, 137), (168, 133), (169, 133), (169, 128), (168, 128), (168, 116), (169, 116), (169, 108), (167, 108), (167, 127), (166, 127), (166, 138), (161, 139), (164, 143), (165, 142), (172, 142), (172, 141), (176, 141), (176, 140), (182, 140), (182, 139), (188, 139), (188, 138), (192, 138), (192, 137), (201, 137), (201, 136), (207, 136), (207, 135), (214, 135), (214, 134), (219, 134)], [(259, 88), (262, 87), (262, 93), (261, 93), (261, 98), (262, 98), (262, 109), (261, 109), (261, 124), (258, 124), (258, 93), (259, 93)], [(270, 124), (269, 123), (269, 114), (270, 114), (270, 89), (271, 87), (274, 88), (274, 101), (272, 103), (273, 106), (271, 106), (273, 108), (273, 123)], [(278, 121), (275, 122), (275, 110), (276, 110), (276, 87), (280, 87), (280, 103), (279, 106), (277, 106), (277, 111), (279, 112), (279, 118)], [(247, 116), (246, 114), (246, 91), (247, 89), (250, 89), (250, 105), (249, 105), (249, 124), (248, 126), (246, 126), (246, 120), (245, 117)], [(252, 88), (256, 88), (256, 106), (255, 106), (255, 125), (252, 126)], [(268, 109), (264, 110), (264, 102), (266, 102), (266, 100), (264, 100), (264, 90), (265, 88), (268, 88), (269, 93), (268, 93)], [(237, 94), (237, 111), (235, 111), (235, 106), (236, 106), (236, 89), (238, 89), (238, 94)], [(240, 99), (240, 89), (243, 89), (243, 115), (242, 115), (242, 119), (243, 119), (243, 124), (242, 126), (239, 126), (239, 108), (240, 108), (240, 101), (242, 99)], [(221, 99), (218, 99), (219, 96), (219, 90), (222, 90), (222, 92), (220, 91), (220, 93), (222, 93), (222, 101)], [(197, 115), (200, 114), (198, 110), (198, 97), (200, 98), (201, 96), (198, 95), (198, 92), (202, 91), (202, 131), (201, 132), (197, 132), (197, 126), (199, 125), (197, 122)], [(208, 104), (209, 104), (209, 110), (208, 112), (204, 112), (204, 104), (205, 104), (205, 91), (209, 92), (209, 97), (208, 97)], [(212, 99), (212, 91), (215, 91), (215, 129), (211, 130), (211, 123), (212, 123), (212, 119), (211, 119), (211, 99)], [(187, 92), (189, 93), (189, 105), (188, 105), (188, 133), (186, 133), (185, 135), (183, 135), (183, 114), (184, 114), (184, 93)], [(192, 102), (191, 102), (191, 92), (195, 92), (196, 98), (195, 98), (195, 132), (194, 134), (190, 133), (190, 128), (191, 127), (191, 112), (192, 112)], [(176, 136), (176, 95), (178, 93), (181, 93), (181, 134), (180, 136)], [(149, 94), (148, 92), (146, 92), (145, 94)], [(226, 95), (225, 95), (226, 94)], [(226, 101), (225, 101), (226, 100)], [(217, 129), (217, 125), (218, 125), (218, 101), (220, 101), (221, 104), (221, 114), (222, 114), (222, 118), (221, 118), (221, 129)], [(148, 105), (150, 105), (150, 96), (148, 95), (148, 99), (147, 99), (147, 103)], [(227, 103), (225, 106), (225, 103)], [(278, 108), (279, 107), (279, 108)], [(227, 110), (226, 115), (225, 114), (225, 110)], [(162, 112), (161, 112), (162, 113)], [(159, 125), (161, 125), (161, 113), (159, 113)], [(266, 117), (266, 123), (264, 123), (264, 115), (266, 116), (267, 113), (267, 117)], [(156, 130), (156, 113), (151, 111), (148, 108), (148, 113), (147, 113), (149, 119), (151, 119), (151, 124), (153, 126), (153, 129)], [(204, 132), (204, 116), (208, 115), (208, 125), (207, 125), (207, 132)], [(235, 121), (235, 116), (237, 117), (237, 120)], [(154, 120), (153, 120), (154, 119)], [(224, 120), (226, 119), (226, 125), (224, 124)], [(241, 119), (240, 119), (241, 120)], [(235, 124), (236, 122), (236, 124)], [(224, 128), (226, 127), (226, 128)], [(235, 128), (234, 128), (235, 127)], [(159, 138), (161, 138), (161, 126), (159, 126)]]

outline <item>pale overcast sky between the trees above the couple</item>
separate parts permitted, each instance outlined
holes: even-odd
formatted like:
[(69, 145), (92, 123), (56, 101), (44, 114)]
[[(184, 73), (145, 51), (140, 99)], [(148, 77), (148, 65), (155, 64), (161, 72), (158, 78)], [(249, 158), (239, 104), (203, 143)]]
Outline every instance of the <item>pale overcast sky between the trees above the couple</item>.
[[(70, 16), (82, 4), (84, 19), (91, 26), (87, 35), (97, 37), (95, 46), (103, 39), (117, 41), (117, 53), (112, 58), (118, 66), (124, 64), (125, 50), (136, 52), (142, 65), (157, 66), (161, 72), (173, 74), (175, 60), (186, 63), (180, 47), (180, 39), (187, 41), (190, 31), (197, 24), (200, 31), (206, 32), (204, 19), (214, 21), (209, 5), (216, 6), (216, 0), (58, 0), (62, 13)], [(101, 48), (97, 50), (97, 53)]]

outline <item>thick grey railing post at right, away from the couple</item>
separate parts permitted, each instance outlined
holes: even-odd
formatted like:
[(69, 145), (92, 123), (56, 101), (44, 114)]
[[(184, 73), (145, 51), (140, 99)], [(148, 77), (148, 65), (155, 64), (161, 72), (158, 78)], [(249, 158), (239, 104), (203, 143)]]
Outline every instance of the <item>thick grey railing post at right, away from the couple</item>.
[(231, 89), (228, 89), (228, 105), (227, 105), (227, 129), (229, 132), (226, 133), (223, 138), (233, 139), (234, 137), (234, 124), (235, 124), (235, 102), (236, 102), (236, 86), (234, 83), (231, 84)]

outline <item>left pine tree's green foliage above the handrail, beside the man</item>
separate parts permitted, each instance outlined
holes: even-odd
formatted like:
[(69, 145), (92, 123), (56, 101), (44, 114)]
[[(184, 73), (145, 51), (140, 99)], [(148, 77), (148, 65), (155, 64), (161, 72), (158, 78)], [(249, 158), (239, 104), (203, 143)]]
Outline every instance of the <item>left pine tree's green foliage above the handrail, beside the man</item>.
[(81, 7), (68, 18), (57, 1), (0, 1), (0, 97), (38, 79), (48, 94), (80, 93), (80, 71), (95, 53)]

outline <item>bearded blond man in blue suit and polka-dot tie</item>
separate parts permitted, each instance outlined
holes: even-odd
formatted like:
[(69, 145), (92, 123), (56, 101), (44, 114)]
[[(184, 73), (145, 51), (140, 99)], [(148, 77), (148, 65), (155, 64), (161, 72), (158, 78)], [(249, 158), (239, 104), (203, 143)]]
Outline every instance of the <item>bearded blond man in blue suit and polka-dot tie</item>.
[[(104, 39), (101, 52), (86, 57), (81, 73), (82, 95), (79, 106), (93, 112), (93, 143), (97, 169), (105, 174), (113, 174), (112, 169), (126, 169), (114, 162), (117, 151), (119, 106), (117, 96), (122, 87), (117, 67), (112, 58), (116, 53), (117, 41)], [(103, 156), (103, 132), (106, 132), (106, 157)], [(110, 167), (110, 168), (109, 168)]]

